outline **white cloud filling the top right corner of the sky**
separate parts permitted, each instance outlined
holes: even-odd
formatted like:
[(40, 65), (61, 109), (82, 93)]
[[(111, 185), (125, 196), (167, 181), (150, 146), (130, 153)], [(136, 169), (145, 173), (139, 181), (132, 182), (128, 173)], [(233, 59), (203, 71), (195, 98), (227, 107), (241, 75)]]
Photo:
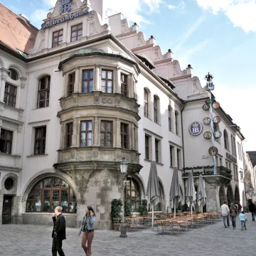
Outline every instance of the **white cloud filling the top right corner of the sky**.
[(256, 0), (196, 0), (203, 9), (213, 14), (223, 12), (235, 27), (246, 33), (256, 32)]

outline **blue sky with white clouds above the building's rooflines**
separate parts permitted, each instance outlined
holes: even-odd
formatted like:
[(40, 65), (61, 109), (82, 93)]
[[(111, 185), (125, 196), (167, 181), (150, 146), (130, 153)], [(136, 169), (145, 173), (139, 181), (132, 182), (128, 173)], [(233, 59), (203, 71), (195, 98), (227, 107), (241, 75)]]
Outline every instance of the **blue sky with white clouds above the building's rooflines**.
[[(94, 0), (90, 0), (94, 1)], [(122, 12), (151, 35), (163, 53), (188, 64), (204, 86), (214, 77), (216, 100), (241, 127), (246, 151), (256, 151), (256, 0), (103, 0), (109, 14)], [(1, 0), (17, 14), (41, 27), (56, 0)]]

